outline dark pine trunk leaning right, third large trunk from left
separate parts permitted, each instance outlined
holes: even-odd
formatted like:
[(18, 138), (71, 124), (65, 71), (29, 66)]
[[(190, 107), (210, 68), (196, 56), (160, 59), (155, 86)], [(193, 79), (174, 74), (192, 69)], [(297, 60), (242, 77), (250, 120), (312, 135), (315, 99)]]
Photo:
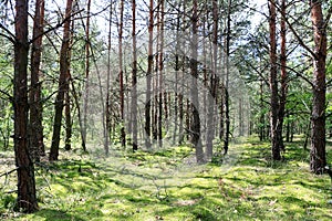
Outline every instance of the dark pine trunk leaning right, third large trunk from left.
[(69, 44), (71, 39), (70, 24), (71, 24), (71, 12), (72, 12), (73, 0), (66, 1), (65, 18), (63, 27), (63, 39), (60, 51), (60, 77), (59, 77), (59, 90), (55, 101), (55, 115), (53, 125), (53, 136), (50, 152), (50, 160), (58, 160), (59, 157), (59, 144), (61, 134), (61, 122), (62, 122), (62, 110), (64, 106), (64, 94), (69, 88)]

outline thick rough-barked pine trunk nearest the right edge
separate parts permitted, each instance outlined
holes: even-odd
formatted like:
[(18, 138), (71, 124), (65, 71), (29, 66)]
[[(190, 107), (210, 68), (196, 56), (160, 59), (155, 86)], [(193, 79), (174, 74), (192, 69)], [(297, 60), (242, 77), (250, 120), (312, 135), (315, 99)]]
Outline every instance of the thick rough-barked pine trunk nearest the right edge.
[(313, 57), (313, 101), (311, 114), (311, 151), (310, 169), (321, 173), (326, 165), (325, 151), (325, 60), (326, 60), (326, 24), (323, 19), (322, 2), (310, 1), (311, 21), (314, 33)]

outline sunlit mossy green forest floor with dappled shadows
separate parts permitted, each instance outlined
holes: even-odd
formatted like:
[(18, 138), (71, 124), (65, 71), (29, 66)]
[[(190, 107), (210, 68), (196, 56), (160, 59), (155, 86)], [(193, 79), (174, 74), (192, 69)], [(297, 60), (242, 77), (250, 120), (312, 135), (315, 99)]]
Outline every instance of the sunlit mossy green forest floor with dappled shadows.
[[(0, 155), (2, 173), (13, 158)], [(0, 177), (0, 220), (332, 220), (332, 180), (310, 173), (300, 143), (287, 144), (282, 162), (253, 138), (206, 165), (196, 165), (185, 146), (114, 150), (107, 158), (61, 152), (35, 175), (40, 211), (33, 214), (13, 212), (14, 172)]]

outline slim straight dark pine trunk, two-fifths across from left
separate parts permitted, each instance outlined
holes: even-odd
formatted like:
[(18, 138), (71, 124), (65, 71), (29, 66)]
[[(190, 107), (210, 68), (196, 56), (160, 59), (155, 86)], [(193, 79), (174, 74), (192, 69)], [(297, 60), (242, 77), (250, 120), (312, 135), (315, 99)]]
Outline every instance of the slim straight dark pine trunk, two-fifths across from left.
[(137, 150), (137, 53), (136, 53), (136, 0), (132, 2), (133, 10), (133, 76), (132, 76), (132, 123), (133, 151)]

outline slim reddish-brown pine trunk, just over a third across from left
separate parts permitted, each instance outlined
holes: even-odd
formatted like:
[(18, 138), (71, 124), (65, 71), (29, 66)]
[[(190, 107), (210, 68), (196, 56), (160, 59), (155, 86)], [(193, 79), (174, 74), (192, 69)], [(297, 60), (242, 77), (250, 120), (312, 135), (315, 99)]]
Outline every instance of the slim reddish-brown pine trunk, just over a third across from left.
[(118, 78), (120, 78), (120, 108), (121, 108), (121, 145), (126, 146), (126, 133), (124, 128), (124, 77), (123, 77), (123, 17), (124, 17), (124, 0), (120, 3), (120, 27), (118, 27)]

